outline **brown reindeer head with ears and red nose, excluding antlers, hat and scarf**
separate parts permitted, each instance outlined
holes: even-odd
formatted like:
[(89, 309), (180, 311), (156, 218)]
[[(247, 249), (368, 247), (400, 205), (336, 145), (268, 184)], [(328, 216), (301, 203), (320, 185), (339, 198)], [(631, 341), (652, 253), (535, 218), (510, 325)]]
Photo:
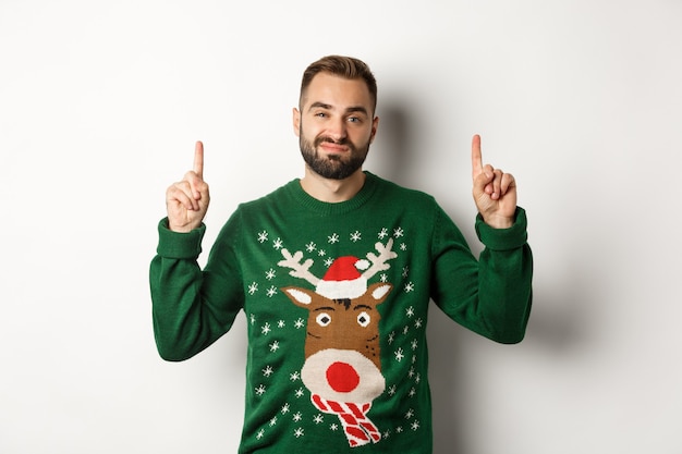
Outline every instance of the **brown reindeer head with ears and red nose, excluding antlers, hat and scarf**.
[(366, 403), (383, 392), (377, 306), (391, 289), (391, 284), (377, 283), (352, 299), (282, 289), (295, 305), (308, 310), (301, 378), (312, 393), (331, 401)]

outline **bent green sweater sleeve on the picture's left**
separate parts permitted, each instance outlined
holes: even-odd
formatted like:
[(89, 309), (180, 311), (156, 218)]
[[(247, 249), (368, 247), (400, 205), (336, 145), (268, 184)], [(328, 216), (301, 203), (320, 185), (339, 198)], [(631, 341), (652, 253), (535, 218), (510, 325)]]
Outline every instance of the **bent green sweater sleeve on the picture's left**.
[(149, 268), (154, 334), (166, 360), (187, 359), (230, 330), (243, 306), (243, 292), (227, 225), (202, 270), (197, 258), (206, 226), (188, 233), (159, 222), (157, 255)]

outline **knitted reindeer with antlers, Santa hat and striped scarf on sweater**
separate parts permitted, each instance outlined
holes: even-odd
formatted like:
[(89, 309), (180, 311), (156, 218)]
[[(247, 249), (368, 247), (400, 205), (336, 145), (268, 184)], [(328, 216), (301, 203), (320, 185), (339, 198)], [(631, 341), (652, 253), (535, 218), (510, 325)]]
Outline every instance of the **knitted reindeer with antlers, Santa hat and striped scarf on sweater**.
[[(391, 250), (393, 240), (376, 243), (378, 255), (367, 259), (340, 257), (329, 267), (325, 279), (310, 271), (312, 259), (301, 262), (303, 253), (282, 249), (290, 274), (315, 285), (282, 289), (296, 305), (308, 310), (305, 363), (301, 380), (312, 393), (313, 404), (321, 412), (336, 414), (351, 446), (377, 443), (379, 430), (367, 418), (372, 402), (386, 389), (381, 375), (379, 320), (377, 306), (393, 286), (367, 280), (390, 268), (388, 260), (398, 257)], [(362, 274), (358, 270), (365, 270)]]

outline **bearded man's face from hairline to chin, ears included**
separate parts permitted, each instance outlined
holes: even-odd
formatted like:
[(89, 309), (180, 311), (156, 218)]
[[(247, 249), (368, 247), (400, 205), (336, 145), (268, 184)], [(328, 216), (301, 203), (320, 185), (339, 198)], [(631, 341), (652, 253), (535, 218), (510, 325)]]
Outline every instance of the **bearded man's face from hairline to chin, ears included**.
[(365, 162), (379, 123), (374, 99), (363, 79), (317, 74), (294, 109), (301, 154), (318, 175), (343, 180)]

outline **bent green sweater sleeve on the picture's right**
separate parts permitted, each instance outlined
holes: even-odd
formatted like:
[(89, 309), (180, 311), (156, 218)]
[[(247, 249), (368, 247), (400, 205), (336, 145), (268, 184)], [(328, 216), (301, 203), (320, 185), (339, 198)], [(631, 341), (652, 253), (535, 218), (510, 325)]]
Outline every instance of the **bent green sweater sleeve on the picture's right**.
[(531, 314), (533, 255), (526, 225), (522, 208), (509, 229), (492, 229), (478, 216), (476, 233), (485, 248), (476, 260), (442, 210), (435, 222), (431, 297), (454, 321), (504, 344), (523, 340)]

